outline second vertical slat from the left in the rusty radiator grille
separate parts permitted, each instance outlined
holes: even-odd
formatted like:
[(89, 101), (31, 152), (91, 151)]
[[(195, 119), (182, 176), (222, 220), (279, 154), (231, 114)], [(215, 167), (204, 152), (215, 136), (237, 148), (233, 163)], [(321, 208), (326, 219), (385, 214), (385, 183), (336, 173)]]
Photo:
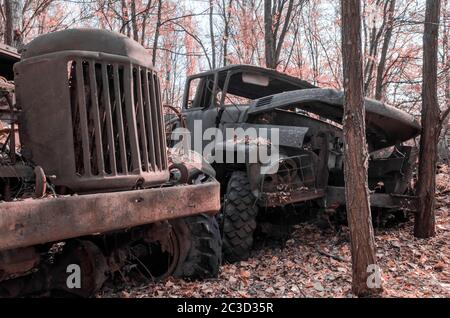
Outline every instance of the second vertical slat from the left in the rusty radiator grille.
[(97, 159), (97, 171), (99, 175), (105, 174), (105, 163), (103, 162), (102, 125), (100, 123), (100, 112), (98, 106), (97, 79), (95, 76), (95, 63), (89, 63), (89, 86), (91, 89), (91, 112), (93, 119), (93, 130), (95, 140), (95, 157)]

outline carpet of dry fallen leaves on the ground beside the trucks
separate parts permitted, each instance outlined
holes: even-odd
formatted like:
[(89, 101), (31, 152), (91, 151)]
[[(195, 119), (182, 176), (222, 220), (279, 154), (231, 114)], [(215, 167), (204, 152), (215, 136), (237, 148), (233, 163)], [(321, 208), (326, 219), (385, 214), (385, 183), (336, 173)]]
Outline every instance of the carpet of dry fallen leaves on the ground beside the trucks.
[[(449, 202), (448, 193), (438, 197), (436, 236), (431, 239), (414, 238), (412, 221), (375, 230), (384, 297), (450, 297)], [(310, 224), (295, 227), (284, 249), (260, 247), (248, 261), (223, 265), (217, 279), (170, 278), (105, 288), (98, 297), (353, 297), (348, 229), (336, 233)]]

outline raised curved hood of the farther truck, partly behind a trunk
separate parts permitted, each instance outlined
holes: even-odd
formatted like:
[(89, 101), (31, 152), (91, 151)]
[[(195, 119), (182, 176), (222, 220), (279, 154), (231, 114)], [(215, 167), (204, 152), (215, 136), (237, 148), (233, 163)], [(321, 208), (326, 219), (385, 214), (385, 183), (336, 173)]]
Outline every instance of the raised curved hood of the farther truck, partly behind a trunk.
[[(251, 103), (247, 115), (274, 109), (301, 109), (342, 124), (344, 92), (334, 89), (302, 89), (271, 95)], [(413, 116), (379, 101), (366, 98), (366, 133), (373, 150), (414, 138), (420, 125)]]

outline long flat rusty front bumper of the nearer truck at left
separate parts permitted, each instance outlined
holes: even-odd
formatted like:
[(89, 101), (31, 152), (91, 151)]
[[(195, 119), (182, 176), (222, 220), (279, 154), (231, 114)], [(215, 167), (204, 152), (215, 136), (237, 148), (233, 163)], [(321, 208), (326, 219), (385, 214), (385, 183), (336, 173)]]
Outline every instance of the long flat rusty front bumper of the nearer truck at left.
[(219, 184), (80, 195), (0, 206), (0, 250), (124, 229), (220, 209)]

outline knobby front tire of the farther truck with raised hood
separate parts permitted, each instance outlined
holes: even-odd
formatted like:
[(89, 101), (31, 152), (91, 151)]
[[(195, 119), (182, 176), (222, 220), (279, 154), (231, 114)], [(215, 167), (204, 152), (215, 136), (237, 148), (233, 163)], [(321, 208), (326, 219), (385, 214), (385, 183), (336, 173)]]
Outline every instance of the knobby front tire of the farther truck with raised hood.
[(233, 263), (249, 258), (253, 247), (258, 206), (247, 174), (235, 171), (226, 189), (222, 208), (223, 258)]

